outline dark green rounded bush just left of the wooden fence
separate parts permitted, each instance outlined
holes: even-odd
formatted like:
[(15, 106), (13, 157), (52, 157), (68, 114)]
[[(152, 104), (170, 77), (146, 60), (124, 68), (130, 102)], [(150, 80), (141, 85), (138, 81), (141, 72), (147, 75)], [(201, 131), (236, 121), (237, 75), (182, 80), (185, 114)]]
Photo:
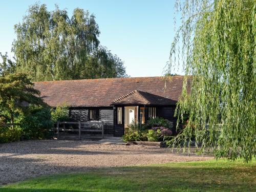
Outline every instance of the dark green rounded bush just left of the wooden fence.
[(29, 113), (17, 118), (23, 139), (44, 139), (50, 136), (53, 127), (51, 111), (41, 106), (30, 106)]

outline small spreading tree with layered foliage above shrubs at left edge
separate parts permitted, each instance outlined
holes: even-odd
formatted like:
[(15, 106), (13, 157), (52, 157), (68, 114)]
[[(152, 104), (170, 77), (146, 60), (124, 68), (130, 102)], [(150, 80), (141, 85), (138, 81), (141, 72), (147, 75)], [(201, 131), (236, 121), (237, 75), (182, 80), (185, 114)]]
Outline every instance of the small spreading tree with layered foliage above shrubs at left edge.
[(13, 123), (15, 114), (26, 112), (29, 104), (46, 106), (33, 85), (23, 73), (0, 77), (0, 115), (4, 114)]

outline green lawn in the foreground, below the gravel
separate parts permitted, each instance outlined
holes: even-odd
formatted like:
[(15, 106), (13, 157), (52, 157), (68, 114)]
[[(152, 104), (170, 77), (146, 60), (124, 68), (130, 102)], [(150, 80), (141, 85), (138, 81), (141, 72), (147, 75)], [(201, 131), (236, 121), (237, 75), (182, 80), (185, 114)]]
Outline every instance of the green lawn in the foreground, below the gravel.
[(211, 160), (96, 169), (2, 186), (0, 191), (255, 191), (256, 160)]

